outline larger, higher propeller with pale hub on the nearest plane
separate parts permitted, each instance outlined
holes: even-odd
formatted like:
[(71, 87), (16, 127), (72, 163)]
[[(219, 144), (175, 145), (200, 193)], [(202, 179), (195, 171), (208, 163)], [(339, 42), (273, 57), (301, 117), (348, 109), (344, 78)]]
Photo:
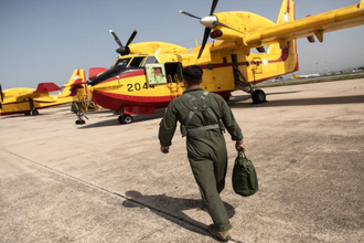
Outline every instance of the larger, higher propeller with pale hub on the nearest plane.
[(202, 45), (201, 45), (201, 49), (200, 49), (197, 59), (200, 59), (200, 56), (201, 56), (201, 54), (202, 54), (202, 52), (203, 52), (203, 50), (204, 50), (204, 47), (206, 45), (206, 42), (207, 42), (207, 39), (210, 36), (211, 30), (213, 28), (220, 25), (220, 27), (225, 27), (225, 28), (228, 28), (231, 30), (240, 32), (240, 31), (235, 30), (235, 29), (233, 29), (231, 27), (227, 27), (224, 23), (218, 22), (217, 21), (217, 17), (213, 15), (214, 14), (214, 11), (216, 9), (217, 2), (218, 2), (218, 0), (213, 0), (212, 6), (211, 6), (210, 15), (208, 17), (204, 17), (204, 18), (199, 18), (199, 17), (193, 15), (193, 14), (191, 14), (189, 12), (183, 11), (183, 10), (180, 11), (180, 13), (183, 13), (183, 14), (185, 14), (188, 17), (191, 17), (191, 18), (194, 18), (194, 19), (199, 19), (200, 20), (200, 23), (205, 27), (205, 32), (204, 32), (204, 35), (203, 35)]

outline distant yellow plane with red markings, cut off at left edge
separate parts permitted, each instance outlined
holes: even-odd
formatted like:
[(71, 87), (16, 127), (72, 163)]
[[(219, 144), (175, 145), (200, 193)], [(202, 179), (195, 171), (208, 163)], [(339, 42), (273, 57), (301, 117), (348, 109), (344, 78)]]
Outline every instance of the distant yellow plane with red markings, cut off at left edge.
[(38, 109), (41, 108), (87, 99), (85, 71), (75, 70), (63, 87), (62, 94), (50, 95), (51, 92), (62, 91), (62, 88), (54, 83), (40, 83), (36, 89), (19, 87), (2, 91), (0, 86), (0, 116), (39, 115)]

